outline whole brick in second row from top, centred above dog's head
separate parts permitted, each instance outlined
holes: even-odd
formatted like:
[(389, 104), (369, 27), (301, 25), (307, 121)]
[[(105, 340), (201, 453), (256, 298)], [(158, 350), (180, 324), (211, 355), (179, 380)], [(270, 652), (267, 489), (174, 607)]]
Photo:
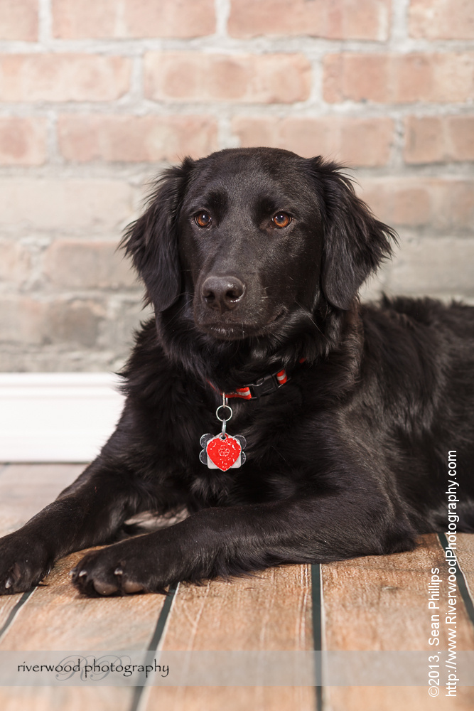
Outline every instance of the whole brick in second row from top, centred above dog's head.
[(149, 52), (144, 75), (145, 95), (156, 101), (289, 104), (311, 90), (311, 65), (298, 54)]

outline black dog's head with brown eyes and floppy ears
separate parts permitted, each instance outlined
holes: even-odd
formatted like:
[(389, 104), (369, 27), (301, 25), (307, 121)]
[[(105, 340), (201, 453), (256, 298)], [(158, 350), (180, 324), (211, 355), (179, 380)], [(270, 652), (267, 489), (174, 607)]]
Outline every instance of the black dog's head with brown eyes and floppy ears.
[(200, 332), (235, 341), (350, 309), (389, 237), (340, 166), (259, 148), (168, 169), (124, 245), (157, 312), (183, 299)]

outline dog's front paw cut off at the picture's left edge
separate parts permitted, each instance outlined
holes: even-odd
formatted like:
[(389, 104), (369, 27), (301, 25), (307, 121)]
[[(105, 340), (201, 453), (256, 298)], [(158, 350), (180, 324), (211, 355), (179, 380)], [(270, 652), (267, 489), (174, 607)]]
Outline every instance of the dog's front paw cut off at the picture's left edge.
[(14, 595), (35, 587), (53, 565), (41, 541), (21, 530), (0, 539), (0, 595)]

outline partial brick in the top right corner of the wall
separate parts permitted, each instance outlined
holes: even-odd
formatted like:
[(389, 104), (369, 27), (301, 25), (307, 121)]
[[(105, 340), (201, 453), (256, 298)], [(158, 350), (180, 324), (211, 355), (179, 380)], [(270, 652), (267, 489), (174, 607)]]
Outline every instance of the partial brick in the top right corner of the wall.
[(472, 0), (411, 0), (409, 34), (430, 40), (473, 39)]

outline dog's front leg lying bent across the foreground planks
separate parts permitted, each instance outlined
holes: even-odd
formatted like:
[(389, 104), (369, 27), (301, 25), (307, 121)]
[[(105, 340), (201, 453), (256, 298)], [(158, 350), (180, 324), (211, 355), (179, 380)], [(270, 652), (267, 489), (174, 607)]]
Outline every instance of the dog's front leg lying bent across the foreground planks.
[(72, 582), (89, 595), (163, 592), (180, 580), (390, 552), (390, 517), (382, 501), (379, 510), (369, 508), (373, 503), (365, 492), (203, 509), (166, 530), (89, 553)]

